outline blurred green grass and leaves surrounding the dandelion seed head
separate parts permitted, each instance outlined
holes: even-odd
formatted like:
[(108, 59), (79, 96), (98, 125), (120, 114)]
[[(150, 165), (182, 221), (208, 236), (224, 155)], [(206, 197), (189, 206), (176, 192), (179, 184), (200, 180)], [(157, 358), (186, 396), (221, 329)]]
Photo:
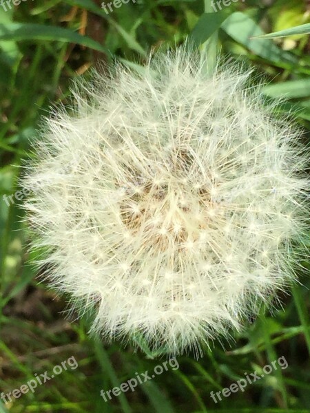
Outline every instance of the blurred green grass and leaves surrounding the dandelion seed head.
[[(79, 364), (38, 385), (34, 393), (9, 403), (0, 399), (0, 413), (310, 412), (306, 263), (300, 285), (279, 297), (282, 307), (278, 304), (273, 314), (251, 320), (229, 343), (210, 343), (202, 358), (178, 357), (178, 369), (169, 368), (134, 392), (105, 402), (101, 389), (152, 372), (165, 359), (156, 359), (147, 348), (134, 352), (131, 345), (101, 343), (87, 335), (89, 318), (68, 318), (68, 297), (56, 297), (26, 264), (33, 257), (26, 253), (22, 199), (12, 203), (3, 198), (19, 189), (20, 165), (31, 156), (29, 140), (41, 116), (55, 103), (70, 103), (72, 78), (87, 77), (91, 67), (114, 59), (139, 70), (149, 50), (182, 43), (189, 34), (197, 43), (212, 35), (210, 47), (217, 43), (224, 56), (256, 67), (271, 82), (265, 94), (288, 99), (282, 110), (296, 116), (308, 145), (309, 36), (249, 38), (309, 23), (309, 1), (230, 3), (225, 7), (222, 1), (223, 10), (216, 6), (210, 19), (203, 13), (214, 10), (203, 0), (130, 0), (109, 14), (95, 0), (28, 0), (17, 6), (0, 2), (0, 390), (12, 392), (72, 356)], [(262, 374), (263, 366), (282, 356), (287, 368), (273, 369), (218, 403), (211, 399), (211, 391), (229, 387), (245, 373)]]

